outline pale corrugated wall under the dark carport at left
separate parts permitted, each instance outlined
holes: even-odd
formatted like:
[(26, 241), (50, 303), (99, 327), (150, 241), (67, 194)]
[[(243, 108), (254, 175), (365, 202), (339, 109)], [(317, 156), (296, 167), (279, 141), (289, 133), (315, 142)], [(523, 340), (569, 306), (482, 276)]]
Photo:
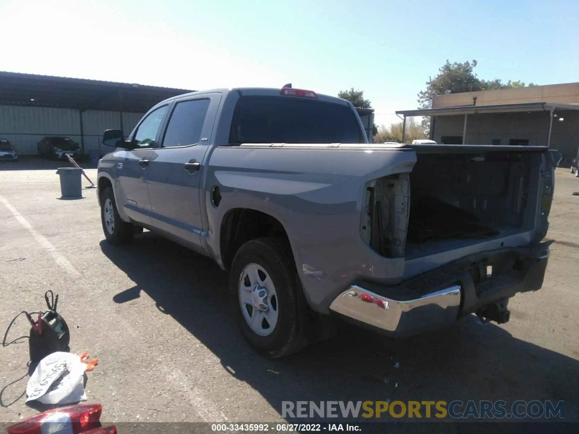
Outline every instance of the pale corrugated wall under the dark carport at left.
[[(123, 131), (129, 135), (144, 113), (122, 113)], [(120, 113), (89, 110), (82, 113), (85, 153), (101, 149), (104, 130), (120, 128)], [(21, 155), (36, 155), (36, 144), (47, 135), (63, 135), (80, 143), (80, 112), (75, 109), (0, 105), (0, 137)]]

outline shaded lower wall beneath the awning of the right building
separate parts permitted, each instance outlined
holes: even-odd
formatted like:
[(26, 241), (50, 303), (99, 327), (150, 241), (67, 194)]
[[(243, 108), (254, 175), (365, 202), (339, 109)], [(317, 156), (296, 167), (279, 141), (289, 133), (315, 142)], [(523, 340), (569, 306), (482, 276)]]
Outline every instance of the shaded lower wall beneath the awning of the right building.
[[(553, 119), (551, 149), (559, 149), (563, 157), (573, 159), (579, 148), (579, 112), (558, 111)], [(563, 121), (558, 119), (563, 117)], [(530, 113), (485, 113), (468, 115), (467, 145), (492, 145), (500, 139), (508, 145), (510, 139), (528, 139), (529, 145), (547, 146), (549, 112)], [(434, 140), (441, 142), (445, 135), (463, 135), (464, 115), (435, 116)]]

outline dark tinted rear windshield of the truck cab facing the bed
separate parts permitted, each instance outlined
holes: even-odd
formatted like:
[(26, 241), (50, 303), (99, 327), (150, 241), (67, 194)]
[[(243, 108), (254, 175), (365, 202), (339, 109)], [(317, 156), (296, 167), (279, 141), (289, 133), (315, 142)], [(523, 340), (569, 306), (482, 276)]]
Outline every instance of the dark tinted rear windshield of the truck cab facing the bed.
[(241, 97), (229, 143), (363, 143), (349, 106), (295, 97)]

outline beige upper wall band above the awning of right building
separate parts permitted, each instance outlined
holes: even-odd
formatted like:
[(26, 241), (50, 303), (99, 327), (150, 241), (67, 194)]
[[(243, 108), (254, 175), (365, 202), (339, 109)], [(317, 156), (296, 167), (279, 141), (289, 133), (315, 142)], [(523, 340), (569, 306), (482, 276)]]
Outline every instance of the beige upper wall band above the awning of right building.
[(474, 97), (477, 97), (476, 105), (521, 104), (522, 102), (579, 104), (579, 83), (437, 95), (433, 98), (433, 108), (472, 105)]

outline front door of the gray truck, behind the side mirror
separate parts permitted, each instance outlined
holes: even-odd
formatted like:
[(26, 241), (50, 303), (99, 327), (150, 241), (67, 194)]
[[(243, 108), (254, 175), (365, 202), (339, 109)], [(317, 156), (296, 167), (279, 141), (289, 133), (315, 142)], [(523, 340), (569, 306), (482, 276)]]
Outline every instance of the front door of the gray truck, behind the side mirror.
[(131, 220), (143, 225), (151, 223), (151, 201), (146, 176), (167, 108), (168, 105), (156, 108), (141, 120), (130, 137), (135, 149), (118, 151), (122, 160), (117, 168), (119, 181), (115, 189), (116, 205), (122, 207)]

